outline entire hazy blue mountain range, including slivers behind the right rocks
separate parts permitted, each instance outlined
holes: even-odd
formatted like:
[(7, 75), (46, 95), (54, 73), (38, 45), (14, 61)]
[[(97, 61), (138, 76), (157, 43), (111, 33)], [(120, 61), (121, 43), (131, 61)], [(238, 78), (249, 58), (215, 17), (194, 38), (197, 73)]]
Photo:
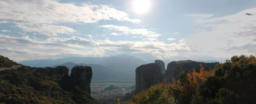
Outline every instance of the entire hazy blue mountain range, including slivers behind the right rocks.
[[(195, 61), (221, 63), (216, 60)], [(167, 64), (172, 62), (172, 60), (163, 60), (163, 62), (165, 62), (165, 66), (167, 67)], [(91, 66), (93, 69), (92, 80), (101, 80), (135, 78), (135, 69), (137, 67), (146, 63), (154, 63), (154, 60), (145, 62), (144, 60), (131, 55), (119, 54), (110, 57), (66, 57), (60, 59), (25, 60), (18, 63), (31, 67), (67, 66), (67, 68), (70, 69), (70, 73), (73, 66)]]

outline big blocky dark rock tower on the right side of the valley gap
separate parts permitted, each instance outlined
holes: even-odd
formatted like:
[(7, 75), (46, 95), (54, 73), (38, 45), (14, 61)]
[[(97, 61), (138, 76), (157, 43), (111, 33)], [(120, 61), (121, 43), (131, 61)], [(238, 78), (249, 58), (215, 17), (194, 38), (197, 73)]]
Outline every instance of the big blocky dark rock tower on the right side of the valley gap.
[(151, 85), (162, 81), (163, 75), (160, 71), (160, 66), (157, 63), (148, 63), (137, 67), (135, 94), (140, 93), (141, 90), (150, 88)]

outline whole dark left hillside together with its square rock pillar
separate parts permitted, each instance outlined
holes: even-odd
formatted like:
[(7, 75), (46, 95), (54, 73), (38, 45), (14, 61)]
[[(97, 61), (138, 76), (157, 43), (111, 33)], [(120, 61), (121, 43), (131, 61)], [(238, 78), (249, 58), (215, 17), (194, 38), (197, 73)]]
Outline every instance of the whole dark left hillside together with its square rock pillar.
[[(5, 61), (3, 57), (0, 59), (1, 63), (15, 64), (6, 57)], [(49, 74), (43, 74), (47, 69)], [(74, 77), (69, 77), (67, 72), (65, 66), (20, 66), (0, 71), (0, 104), (102, 104), (90, 96), (90, 67), (73, 68)]]

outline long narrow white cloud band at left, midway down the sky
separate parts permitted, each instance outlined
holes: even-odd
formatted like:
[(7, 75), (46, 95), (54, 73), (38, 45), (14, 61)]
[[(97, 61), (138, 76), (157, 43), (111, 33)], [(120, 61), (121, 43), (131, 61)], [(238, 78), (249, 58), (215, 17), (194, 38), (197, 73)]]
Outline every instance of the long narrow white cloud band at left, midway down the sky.
[(77, 47), (77, 48), (86, 48), (86, 46), (94, 46), (96, 44), (91, 38), (80, 38), (80, 37), (71, 37), (71, 38), (59, 38), (59, 37), (49, 37), (45, 40), (38, 40), (37, 38), (32, 39), (29, 36), (23, 37), (10, 37), (3, 34), (0, 34), (0, 41), (3, 42), (3, 45), (8, 46), (67, 46), (67, 47)]

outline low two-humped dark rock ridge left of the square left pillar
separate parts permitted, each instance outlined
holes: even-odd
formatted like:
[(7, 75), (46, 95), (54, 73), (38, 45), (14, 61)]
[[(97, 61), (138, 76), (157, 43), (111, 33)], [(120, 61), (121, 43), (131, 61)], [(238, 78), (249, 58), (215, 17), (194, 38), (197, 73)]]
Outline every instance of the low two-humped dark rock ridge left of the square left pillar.
[(56, 68), (45, 67), (35, 70), (37, 73), (43, 73), (46, 75), (68, 75), (69, 69), (66, 66), (57, 66)]

